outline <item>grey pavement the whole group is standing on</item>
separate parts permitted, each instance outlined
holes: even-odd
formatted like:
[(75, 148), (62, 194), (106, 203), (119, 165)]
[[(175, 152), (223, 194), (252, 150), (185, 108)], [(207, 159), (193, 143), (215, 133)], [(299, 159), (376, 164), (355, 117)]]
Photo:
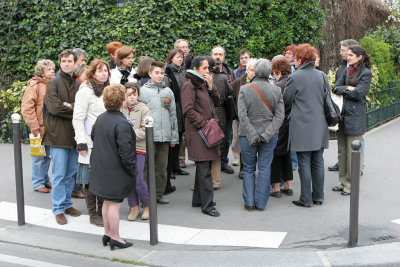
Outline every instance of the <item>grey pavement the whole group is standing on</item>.
[[(234, 167), (235, 174), (223, 174), (221, 188), (215, 191), (215, 201), (221, 217), (213, 218), (202, 214), (199, 208), (191, 207), (192, 192), (189, 188), (194, 182), (195, 171), (191, 162), (187, 162), (187, 170), (191, 175), (177, 176), (177, 180), (173, 182), (177, 191), (167, 196), (171, 204), (157, 207), (159, 224), (174, 226), (176, 232), (169, 232), (172, 228), (160, 229), (160, 232), (169, 233), (171, 240), (172, 237), (183, 234), (187, 228), (204, 231), (208, 229), (211, 233), (213, 230), (260, 233), (258, 237), (257, 234), (252, 237), (253, 241), (266, 233), (285, 233), (278, 247), (260, 248), (246, 245), (245, 242), (239, 242), (238, 245), (237, 240), (229, 239), (238, 235), (214, 235), (208, 240), (203, 240), (201, 245), (192, 242), (195, 244), (193, 245), (189, 241), (170, 242), (167, 235), (163, 238), (164, 242), (156, 246), (149, 245), (148, 241), (141, 241), (144, 240), (142, 238), (133, 237), (133, 248), (111, 252), (109, 248), (103, 248), (101, 245), (101, 228), (97, 228), (96, 232), (84, 231), (89, 225), (88, 221), (79, 221), (77, 228), (82, 231), (77, 232), (40, 224), (18, 227), (11, 217), (5, 219), (6, 215), (0, 217), (3, 218), (0, 220), (0, 241), (96, 257), (130, 259), (155, 266), (400, 266), (400, 224), (392, 222), (400, 219), (400, 142), (397, 141), (399, 132), (400, 119), (397, 119), (364, 136), (366, 169), (361, 179), (357, 248), (347, 247), (350, 198), (331, 191), (331, 188), (338, 184), (337, 172), (325, 173), (325, 201), (322, 206), (306, 209), (291, 203), (292, 200), (298, 199), (300, 193), (296, 171), (293, 197), (270, 198), (264, 211), (248, 212), (243, 208), (242, 181), (237, 178), (238, 167)], [(0, 158), (0, 201), (15, 203), (12, 145), (0, 145)], [(336, 162), (336, 141), (330, 142), (330, 148), (325, 151), (324, 158), (325, 169)], [(50, 194), (32, 191), (31, 161), (27, 146), (23, 146), (23, 168), (25, 204), (45, 210), (51, 209)], [(74, 207), (87, 214), (84, 200), (74, 199)], [(126, 220), (127, 215), (128, 206), (124, 203), (121, 208), (121, 220)], [(129, 227), (129, 222), (126, 223), (127, 230), (124, 232), (121, 228), (121, 236), (124, 237), (125, 234), (130, 240), (130, 231), (133, 231), (135, 226), (148, 226), (148, 222), (140, 220), (132, 223), (132, 227)], [(137, 225), (138, 223), (141, 225)]]

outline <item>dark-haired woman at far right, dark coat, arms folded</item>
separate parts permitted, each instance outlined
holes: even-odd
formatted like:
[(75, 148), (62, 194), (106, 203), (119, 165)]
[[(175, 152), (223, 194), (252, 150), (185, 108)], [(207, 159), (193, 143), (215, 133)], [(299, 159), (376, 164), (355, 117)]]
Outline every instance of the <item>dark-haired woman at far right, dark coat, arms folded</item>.
[[(369, 92), (372, 73), (367, 51), (359, 45), (348, 47), (349, 68), (336, 82), (333, 93), (343, 96), (342, 120), (339, 122), (338, 154), (340, 185), (332, 188), (343, 196), (350, 195), (351, 189), (351, 143), (361, 142), (366, 130), (365, 96)], [(362, 161), (361, 154), (361, 163)]]

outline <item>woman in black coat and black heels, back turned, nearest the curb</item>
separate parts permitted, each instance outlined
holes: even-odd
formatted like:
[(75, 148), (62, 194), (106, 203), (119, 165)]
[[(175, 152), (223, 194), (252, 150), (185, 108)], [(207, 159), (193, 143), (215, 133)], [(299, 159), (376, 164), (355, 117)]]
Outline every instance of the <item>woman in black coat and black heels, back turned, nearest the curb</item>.
[(104, 199), (103, 245), (132, 246), (119, 236), (119, 208), (136, 185), (136, 136), (133, 123), (120, 110), (125, 100), (125, 87), (107, 86), (103, 91), (106, 112), (92, 129), (93, 150), (90, 157), (90, 191)]

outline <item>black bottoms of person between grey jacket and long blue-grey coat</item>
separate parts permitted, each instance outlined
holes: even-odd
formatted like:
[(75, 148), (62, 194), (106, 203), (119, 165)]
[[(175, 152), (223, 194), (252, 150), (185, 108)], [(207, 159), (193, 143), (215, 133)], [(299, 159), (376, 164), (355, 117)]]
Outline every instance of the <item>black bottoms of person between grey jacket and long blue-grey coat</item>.
[(293, 180), (292, 160), (290, 152), (274, 155), (271, 164), (271, 184)]

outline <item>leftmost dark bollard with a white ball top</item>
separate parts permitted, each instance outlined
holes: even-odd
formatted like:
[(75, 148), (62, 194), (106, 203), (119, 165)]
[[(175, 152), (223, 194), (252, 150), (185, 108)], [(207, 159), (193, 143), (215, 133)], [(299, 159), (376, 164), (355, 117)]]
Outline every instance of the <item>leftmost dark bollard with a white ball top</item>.
[(17, 192), (17, 214), (18, 226), (25, 224), (24, 206), (24, 182), (22, 177), (22, 154), (21, 154), (21, 133), (19, 123), (21, 116), (14, 113), (11, 116), (13, 122), (13, 143), (14, 143), (14, 166), (15, 166), (15, 186)]

